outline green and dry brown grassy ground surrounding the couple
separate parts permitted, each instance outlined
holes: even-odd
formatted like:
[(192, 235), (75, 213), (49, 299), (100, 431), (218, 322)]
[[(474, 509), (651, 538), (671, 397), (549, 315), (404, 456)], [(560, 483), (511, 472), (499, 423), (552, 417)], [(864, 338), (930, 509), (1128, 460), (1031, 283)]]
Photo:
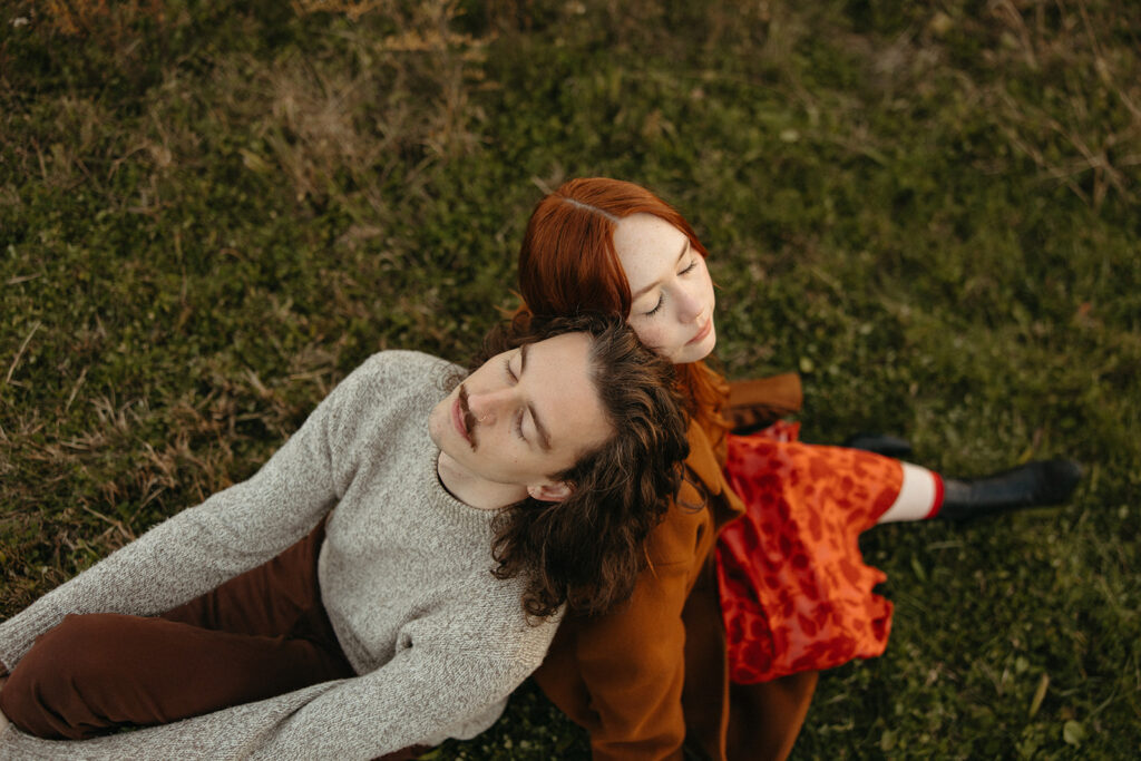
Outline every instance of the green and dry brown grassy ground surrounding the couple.
[[(1141, 753), (1141, 7), (15, 0), (0, 616), (249, 476), (371, 353), (461, 358), (543, 189), (647, 184), (806, 438), (1073, 505), (864, 548), (896, 602), (798, 759)], [(529, 686), (445, 759), (586, 758)]]

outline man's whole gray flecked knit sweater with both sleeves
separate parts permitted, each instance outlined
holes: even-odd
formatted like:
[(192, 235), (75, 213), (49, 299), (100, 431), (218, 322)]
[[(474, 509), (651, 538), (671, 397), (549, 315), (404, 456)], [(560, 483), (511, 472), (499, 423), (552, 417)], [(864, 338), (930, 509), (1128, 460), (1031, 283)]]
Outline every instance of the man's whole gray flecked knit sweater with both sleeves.
[(68, 613), (155, 615), (253, 568), (329, 516), (322, 599), (357, 677), (82, 742), (9, 727), (8, 759), (370, 759), (471, 737), (542, 662), (519, 580), (491, 574), (492, 511), (452, 497), (428, 415), (454, 367), (385, 351), (249, 480), (155, 526), (0, 624), (9, 669)]

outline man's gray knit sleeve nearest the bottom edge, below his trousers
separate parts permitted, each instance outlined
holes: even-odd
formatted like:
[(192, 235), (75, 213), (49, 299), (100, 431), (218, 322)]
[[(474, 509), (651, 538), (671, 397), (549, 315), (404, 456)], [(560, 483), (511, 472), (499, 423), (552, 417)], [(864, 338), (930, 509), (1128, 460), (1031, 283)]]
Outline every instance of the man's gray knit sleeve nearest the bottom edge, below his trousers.
[(410, 622), (397, 655), (363, 677), (88, 740), (43, 740), (9, 728), (0, 756), (372, 759), (448, 735), (471, 736), (499, 718), (507, 696), (542, 661), (557, 625), (527, 624), (516, 592), (505, 585), (492, 605), (468, 599)]

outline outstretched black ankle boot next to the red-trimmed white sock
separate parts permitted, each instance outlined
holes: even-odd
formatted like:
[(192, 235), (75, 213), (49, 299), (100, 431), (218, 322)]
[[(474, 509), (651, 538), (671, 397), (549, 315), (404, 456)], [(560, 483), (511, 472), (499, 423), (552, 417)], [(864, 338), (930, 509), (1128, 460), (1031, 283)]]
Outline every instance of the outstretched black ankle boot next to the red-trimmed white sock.
[(1061, 504), (1069, 500), (1081, 478), (1082, 469), (1070, 460), (1028, 462), (971, 480), (945, 478), (942, 507), (936, 517), (966, 520), (1019, 508)]

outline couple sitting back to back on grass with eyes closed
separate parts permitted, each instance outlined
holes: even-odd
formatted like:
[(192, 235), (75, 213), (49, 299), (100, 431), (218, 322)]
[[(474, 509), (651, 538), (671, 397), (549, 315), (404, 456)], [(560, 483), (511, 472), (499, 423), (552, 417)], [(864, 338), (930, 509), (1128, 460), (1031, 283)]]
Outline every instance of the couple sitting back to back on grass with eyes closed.
[(1077, 473), (731, 435), (727, 404), (795, 408), (799, 386), (727, 396), (705, 366), (705, 256), (637, 185), (543, 199), (526, 306), (450, 392), (443, 361), (374, 356), (253, 478), (0, 624), (0, 751), (408, 758), (542, 664), (596, 759), (786, 755), (817, 671), (887, 642), (859, 532), (1055, 503)]

